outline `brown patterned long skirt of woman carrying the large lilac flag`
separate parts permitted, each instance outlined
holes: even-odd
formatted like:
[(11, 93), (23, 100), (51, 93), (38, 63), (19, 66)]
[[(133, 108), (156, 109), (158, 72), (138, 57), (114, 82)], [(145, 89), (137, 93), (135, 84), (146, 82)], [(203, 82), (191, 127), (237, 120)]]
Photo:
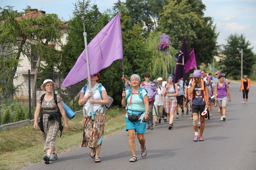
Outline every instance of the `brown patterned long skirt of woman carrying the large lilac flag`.
[(104, 136), (105, 126), (105, 109), (100, 107), (94, 115), (94, 121), (87, 113), (84, 114), (83, 119), (83, 141), (82, 147), (101, 147)]

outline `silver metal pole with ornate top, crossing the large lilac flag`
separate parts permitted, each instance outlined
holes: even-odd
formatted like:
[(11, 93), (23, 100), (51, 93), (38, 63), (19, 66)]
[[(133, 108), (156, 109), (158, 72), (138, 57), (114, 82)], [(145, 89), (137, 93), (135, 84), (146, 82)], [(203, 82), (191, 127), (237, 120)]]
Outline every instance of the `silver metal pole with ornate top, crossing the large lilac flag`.
[[(84, 12), (89, 11), (89, 10), (81, 10), (81, 11), (76, 11), (80, 12), (82, 14), (82, 20), (83, 20), (83, 26), (84, 26)], [(89, 92), (91, 92), (91, 79), (90, 79), (90, 65), (89, 65), (89, 57), (88, 57), (88, 48), (87, 48), (87, 33), (85, 32), (85, 26), (84, 26), (84, 46), (85, 46), (85, 54), (86, 54), (86, 64), (87, 64), (87, 72), (88, 72), (88, 86), (89, 86)], [(90, 97), (90, 100), (93, 99), (93, 97)], [(88, 103), (89, 107), (91, 107), (91, 119), (94, 121), (94, 109), (93, 109), (93, 104)]]

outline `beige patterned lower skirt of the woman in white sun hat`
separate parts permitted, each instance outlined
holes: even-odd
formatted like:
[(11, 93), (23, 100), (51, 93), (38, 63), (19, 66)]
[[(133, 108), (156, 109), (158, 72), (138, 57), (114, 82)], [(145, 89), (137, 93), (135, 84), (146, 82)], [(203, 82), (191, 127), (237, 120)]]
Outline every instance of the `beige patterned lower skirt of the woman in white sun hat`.
[(55, 138), (59, 131), (59, 122), (55, 118), (54, 120), (48, 120), (49, 114), (43, 115), (43, 125), (44, 125), (44, 132), (42, 132), (44, 144), (44, 152), (47, 149), (53, 147), (55, 143)]

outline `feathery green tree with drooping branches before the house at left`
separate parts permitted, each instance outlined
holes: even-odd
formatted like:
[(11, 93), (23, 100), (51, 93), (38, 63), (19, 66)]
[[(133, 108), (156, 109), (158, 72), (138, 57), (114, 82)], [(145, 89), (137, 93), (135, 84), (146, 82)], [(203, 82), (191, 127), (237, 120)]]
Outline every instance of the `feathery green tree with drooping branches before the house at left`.
[[(36, 90), (35, 85), (37, 81), (37, 73), (40, 66), (40, 61), (45, 60), (45, 65), (50, 65), (53, 70), (55, 66), (52, 60), (47, 60), (48, 57), (58, 57), (56, 50), (47, 46), (49, 43), (59, 45), (61, 44), (61, 37), (63, 36), (63, 23), (59, 20), (56, 14), (42, 14), (37, 17), (28, 16), (27, 19), (23, 17), (16, 18), (16, 12), (12, 7), (0, 8), (0, 51), (8, 51), (8, 55), (1, 55), (3, 60), (14, 61), (11, 68), (11, 77), (5, 77), (5, 81), (10, 82), (8, 86), (13, 87), (13, 79), (18, 67), (18, 61), (23, 54), (31, 61), (31, 48), (34, 46), (34, 53), (38, 57), (37, 69), (34, 76), (34, 86), (32, 86), (32, 106), (35, 106)], [(8, 92), (10, 96), (13, 90)]]

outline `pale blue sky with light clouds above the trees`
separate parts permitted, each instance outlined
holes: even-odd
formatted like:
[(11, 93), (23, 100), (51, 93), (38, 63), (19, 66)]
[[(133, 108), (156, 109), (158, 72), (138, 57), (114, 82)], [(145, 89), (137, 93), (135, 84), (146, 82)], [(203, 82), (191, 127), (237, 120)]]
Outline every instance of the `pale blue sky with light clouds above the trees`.
[[(125, 1), (125, 0), (121, 0)], [(70, 20), (73, 16), (76, 0), (0, 0), (0, 7), (14, 6), (18, 12), (23, 11), (26, 5), (31, 8), (45, 11), (48, 14), (57, 14), (63, 21)], [(117, 0), (91, 0), (97, 4), (99, 11), (112, 9)], [(245, 40), (254, 47), (256, 54), (256, 0), (202, 0), (206, 6), (205, 17), (212, 17), (216, 24), (216, 32), (219, 33), (218, 45), (226, 44), (226, 39), (237, 33), (244, 34)], [(72, 4), (73, 3), (73, 4)]]

